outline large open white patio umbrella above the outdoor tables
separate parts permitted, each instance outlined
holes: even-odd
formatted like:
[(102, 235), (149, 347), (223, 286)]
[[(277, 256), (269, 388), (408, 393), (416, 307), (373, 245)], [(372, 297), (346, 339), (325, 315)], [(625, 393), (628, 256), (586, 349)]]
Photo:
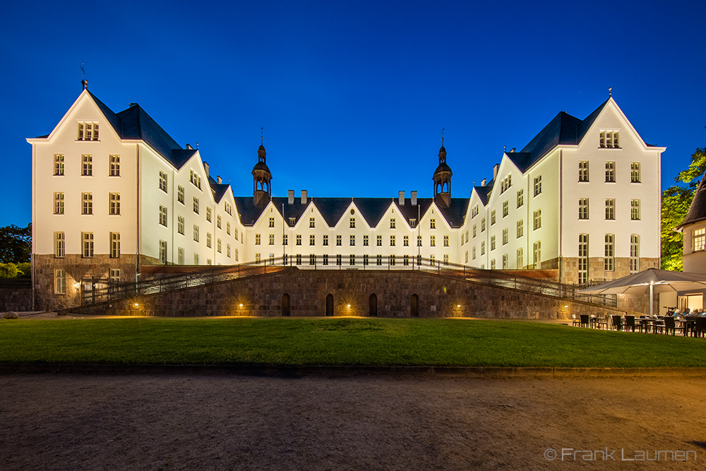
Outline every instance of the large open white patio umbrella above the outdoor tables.
[(706, 275), (684, 273), (681, 271), (658, 270), (648, 268), (640, 273), (624, 276), (617, 280), (603, 283), (579, 291), (585, 294), (650, 294), (650, 317), (654, 293), (706, 290)]

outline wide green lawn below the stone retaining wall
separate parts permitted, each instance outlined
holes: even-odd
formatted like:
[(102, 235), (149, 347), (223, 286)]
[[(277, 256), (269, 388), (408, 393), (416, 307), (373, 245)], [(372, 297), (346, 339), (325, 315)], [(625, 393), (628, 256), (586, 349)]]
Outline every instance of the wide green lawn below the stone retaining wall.
[(0, 321), (0, 363), (704, 367), (706, 339), (467, 319)]

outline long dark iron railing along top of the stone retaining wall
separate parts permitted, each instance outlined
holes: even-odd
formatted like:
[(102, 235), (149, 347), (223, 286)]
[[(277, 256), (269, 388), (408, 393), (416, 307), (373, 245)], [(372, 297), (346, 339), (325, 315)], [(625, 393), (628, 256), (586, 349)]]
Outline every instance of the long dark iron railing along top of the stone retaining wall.
[(411, 255), (302, 254), (262, 258), (258, 261), (233, 266), (180, 266), (179, 269), (184, 270), (182, 273), (148, 275), (138, 282), (116, 282), (109, 280), (109, 278), (89, 275), (81, 280), (81, 304), (85, 306), (135, 297), (140, 294), (180, 290), (214, 282), (274, 273), (289, 267), (296, 267), (299, 270), (419, 270), (480, 282), (484, 285), (513, 288), (551, 297), (578, 299), (606, 306), (616, 306), (617, 299), (614, 294), (578, 294), (578, 290), (582, 288), (576, 285), (531, 278), (521, 273), (505, 270), (482, 270), (436, 258)]

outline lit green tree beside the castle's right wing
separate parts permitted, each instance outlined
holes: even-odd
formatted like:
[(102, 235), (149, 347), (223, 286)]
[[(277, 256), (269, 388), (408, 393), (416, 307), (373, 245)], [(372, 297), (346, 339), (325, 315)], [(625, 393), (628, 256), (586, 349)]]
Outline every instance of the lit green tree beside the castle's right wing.
[(691, 155), (691, 163), (674, 179), (686, 184), (670, 186), (662, 191), (662, 269), (681, 271), (683, 263), (683, 234), (674, 231), (686, 217), (700, 178), (706, 172), (706, 148), (698, 148)]

